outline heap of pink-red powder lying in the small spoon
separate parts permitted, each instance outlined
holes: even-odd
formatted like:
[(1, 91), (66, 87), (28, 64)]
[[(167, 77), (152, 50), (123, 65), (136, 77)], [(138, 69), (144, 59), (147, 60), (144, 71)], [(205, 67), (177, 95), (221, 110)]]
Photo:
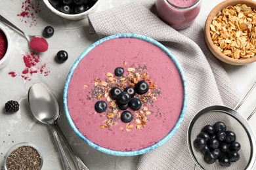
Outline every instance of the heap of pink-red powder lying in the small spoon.
[(30, 41), (30, 48), (36, 52), (45, 52), (48, 50), (48, 43), (43, 37), (34, 37)]

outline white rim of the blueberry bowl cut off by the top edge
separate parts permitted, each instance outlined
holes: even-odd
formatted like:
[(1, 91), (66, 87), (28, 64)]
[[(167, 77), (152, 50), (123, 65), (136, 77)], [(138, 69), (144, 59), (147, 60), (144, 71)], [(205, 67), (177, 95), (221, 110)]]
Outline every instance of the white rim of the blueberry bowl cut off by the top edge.
[(98, 6), (98, 3), (100, 3), (100, 1), (102, 0), (98, 0), (96, 1), (95, 5), (93, 5), (93, 7), (91, 7), (90, 9), (86, 10), (85, 12), (81, 12), (80, 14), (64, 14), (63, 12), (60, 12), (58, 10), (56, 10), (51, 3), (49, 3), (49, 0), (43, 0), (43, 2), (45, 3), (45, 5), (51, 9), (55, 14), (57, 14), (58, 16), (62, 16), (64, 18), (77, 18), (79, 16), (86, 16), (87, 14), (89, 14), (93, 9), (96, 8), (96, 6)]

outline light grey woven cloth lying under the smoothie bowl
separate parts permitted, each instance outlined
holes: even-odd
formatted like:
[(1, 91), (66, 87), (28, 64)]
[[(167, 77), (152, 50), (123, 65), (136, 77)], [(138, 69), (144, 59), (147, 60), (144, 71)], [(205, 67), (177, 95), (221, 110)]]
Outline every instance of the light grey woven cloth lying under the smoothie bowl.
[(234, 107), (238, 91), (219, 61), (211, 54), (198, 24), (176, 31), (162, 22), (154, 4), (128, 3), (89, 15), (91, 33), (102, 37), (118, 33), (137, 33), (161, 42), (177, 58), (188, 87), (186, 115), (175, 135), (163, 146), (139, 158), (137, 169), (192, 169), (186, 131), (192, 116), (210, 105)]

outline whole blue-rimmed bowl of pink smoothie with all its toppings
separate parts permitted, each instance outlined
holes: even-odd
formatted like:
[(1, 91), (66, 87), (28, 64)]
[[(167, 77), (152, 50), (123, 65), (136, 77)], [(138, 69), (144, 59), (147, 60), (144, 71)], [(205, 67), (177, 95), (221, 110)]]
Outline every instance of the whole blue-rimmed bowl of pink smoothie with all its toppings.
[(87, 144), (116, 156), (154, 150), (177, 131), (185, 115), (186, 80), (173, 54), (144, 35), (105, 37), (70, 69), (64, 110)]

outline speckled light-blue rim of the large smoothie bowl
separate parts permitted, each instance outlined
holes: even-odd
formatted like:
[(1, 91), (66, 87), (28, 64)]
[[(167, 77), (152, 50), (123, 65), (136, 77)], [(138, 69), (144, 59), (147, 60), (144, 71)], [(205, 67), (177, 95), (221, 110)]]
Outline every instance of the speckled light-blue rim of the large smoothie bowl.
[[(175, 66), (177, 67), (179, 74), (181, 75), (181, 79), (182, 79), (182, 84), (183, 84), (183, 90), (184, 90), (184, 100), (183, 100), (183, 104), (182, 104), (182, 110), (181, 110), (181, 114), (179, 116), (179, 119), (177, 120), (175, 126), (173, 127), (173, 129), (171, 129), (171, 131), (169, 131), (169, 133), (163, 137), (163, 139), (161, 139), (160, 141), (158, 141), (155, 144), (152, 144), (146, 148), (141, 148), (139, 150), (131, 150), (131, 151), (118, 151), (118, 150), (111, 150), (108, 148), (104, 148), (102, 146), (99, 146), (96, 143), (93, 143), (92, 141), (90, 141), (89, 139), (87, 139), (83, 134), (81, 134), (79, 132), (79, 130), (77, 129), (77, 127), (75, 126), (70, 114), (69, 114), (69, 110), (68, 110), (68, 87), (70, 84), (70, 80), (72, 78), (72, 75), (77, 67), (77, 65), (79, 64), (79, 62), (81, 61), (81, 59), (83, 59), (91, 50), (93, 50), (93, 48), (95, 48), (95, 46), (97, 46), (98, 44), (101, 44), (104, 41), (109, 41), (111, 39), (119, 39), (119, 38), (135, 38), (135, 39), (141, 39), (143, 41), (146, 42), (150, 42), (152, 44), (154, 44), (155, 46), (158, 46), (159, 48), (161, 48), (161, 50), (163, 50), (163, 52), (165, 52), (165, 54), (167, 54), (167, 56), (169, 56), (169, 58), (171, 58), (171, 60), (173, 61), (173, 63), (175, 63)], [(89, 144), (89, 146), (95, 148), (96, 150), (99, 150), (100, 152), (104, 152), (106, 154), (111, 154), (114, 156), (136, 156), (136, 155), (140, 155), (140, 154), (145, 154), (146, 152), (149, 152), (150, 150), (154, 150), (155, 148), (158, 148), (159, 146), (161, 146), (163, 143), (165, 143), (166, 141), (168, 141), (175, 133), (176, 131), (179, 129), (179, 127), (181, 126), (182, 120), (185, 116), (185, 112), (186, 112), (186, 106), (187, 106), (187, 88), (186, 88), (186, 79), (184, 77), (184, 73), (181, 69), (181, 66), (179, 65), (177, 59), (175, 59), (173, 57), (173, 54), (171, 54), (171, 52), (169, 52), (169, 50), (167, 48), (165, 48), (165, 46), (163, 46), (160, 42), (151, 39), (150, 37), (146, 37), (144, 35), (138, 35), (138, 34), (133, 34), (133, 33), (127, 33), (127, 34), (117, 34), (117, 35), (110, 35), (109, 37), (105, 37), (103, 39), (100, 39), (98, 41), (96, 41), (95, 43), (93, 43), (91, 46), (89, 46), (75, 61), (74, 65), (72, 66), (72, 68), (70, 69), (70, 72), (68, 73), (68, 77), (66, 79), (66, 83), (64, 85), (64, 95), (63, 95), (63, 99), (64, 99), (64, 112), (66, 114), (66, 118), (68, 119), (68, 122), (70, 123), (70, 126), (72, 127), (72, 129), (75, 131), (75, 133), (81, 138), (83, 139), (83, 141), (85, 141), (85, 143)]]

